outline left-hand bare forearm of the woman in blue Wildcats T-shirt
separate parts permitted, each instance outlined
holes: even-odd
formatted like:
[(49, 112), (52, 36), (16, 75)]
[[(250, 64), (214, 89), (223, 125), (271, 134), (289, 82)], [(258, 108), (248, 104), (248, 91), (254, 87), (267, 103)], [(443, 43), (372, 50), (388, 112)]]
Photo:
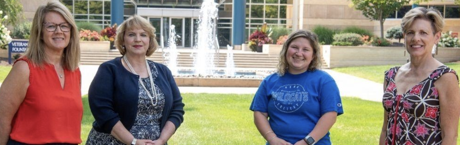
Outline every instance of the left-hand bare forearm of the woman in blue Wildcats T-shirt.
[(268, 123), (268, 113), (254, 111), (254, 124), (256, 124), (259, 133), (270, 143), (270, 145), (292, 145), (286, 140), (276, 137), (276, 134)]

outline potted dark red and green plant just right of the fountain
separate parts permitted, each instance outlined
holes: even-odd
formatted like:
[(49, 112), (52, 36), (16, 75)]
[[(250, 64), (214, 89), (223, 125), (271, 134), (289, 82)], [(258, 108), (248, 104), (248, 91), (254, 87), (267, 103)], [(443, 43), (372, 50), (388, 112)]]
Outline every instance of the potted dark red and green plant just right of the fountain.
[(257, 27), (257, 30), (249, 36), (249, 48), (251, 48), (252, 51), (256, 51), (257, 46), (262, 46), (262, 44), (265, 43), (272, 43), (270, 38), (271, 32), (271, 28), (269, 29), (267, 27), (267, 23), (264, 23), (260, 29)]

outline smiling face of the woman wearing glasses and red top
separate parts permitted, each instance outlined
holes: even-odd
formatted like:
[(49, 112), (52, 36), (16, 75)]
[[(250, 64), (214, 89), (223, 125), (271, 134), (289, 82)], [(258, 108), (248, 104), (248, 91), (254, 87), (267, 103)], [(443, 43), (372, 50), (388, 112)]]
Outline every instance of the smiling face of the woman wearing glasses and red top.
[(45, 49), (63, 50), (67, 47), (67, 45), (69, 45), (71, 31), (63, 32), (63, 28), (61, 27), (62, 25), (57, 26), (56, 31), (54, 32), (49, 32), (46, 28), (47, 26), (49, 27), (52, 24), (60, 25), (63, 23), (67, 23), (67, 21), (61, 14), (53, 11), (46, 13), (44, 25), (41, 29), (43, 42), (45, 43)]

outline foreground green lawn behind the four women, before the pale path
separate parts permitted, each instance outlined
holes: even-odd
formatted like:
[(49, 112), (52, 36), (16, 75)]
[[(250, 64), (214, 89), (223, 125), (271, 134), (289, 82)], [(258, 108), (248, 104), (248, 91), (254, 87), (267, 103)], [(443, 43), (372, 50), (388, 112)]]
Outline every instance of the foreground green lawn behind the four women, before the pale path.
[[(249, 105), (253, 95), (183, 94), (184, 123), (168, 141), (170, 145), (263, 145), (265, 140), (253, 123)], [(83, 144), (91, 129), (88, 98), (83, 97)], [(335, 145), (376, 145), (382, 124), (380, 102), (343, 97), (345, 114), (331, 130)], [(364, 111), (365, 110), (365, 111)]]

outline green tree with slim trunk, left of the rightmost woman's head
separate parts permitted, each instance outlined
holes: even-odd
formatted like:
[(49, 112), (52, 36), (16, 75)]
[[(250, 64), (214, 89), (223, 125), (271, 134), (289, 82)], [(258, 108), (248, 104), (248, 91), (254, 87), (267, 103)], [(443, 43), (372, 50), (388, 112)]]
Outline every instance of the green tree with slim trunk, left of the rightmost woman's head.
[(356, 10), (371, 20), (380, 21), (380, 38), (383, 38), (383, 22), (391, 13), (399, 10), (410, 0), (351, 0)]

